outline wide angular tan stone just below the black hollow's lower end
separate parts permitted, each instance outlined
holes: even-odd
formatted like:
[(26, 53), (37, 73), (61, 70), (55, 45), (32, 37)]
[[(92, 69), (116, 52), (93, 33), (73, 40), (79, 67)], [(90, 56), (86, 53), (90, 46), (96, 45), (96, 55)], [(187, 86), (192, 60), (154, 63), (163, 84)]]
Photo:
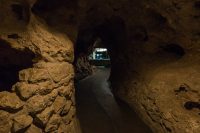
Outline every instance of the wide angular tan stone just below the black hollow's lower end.
[(39, 90), (39, 86), (35, 84), (27, 84), (25, 82), (18, 82), (15, 86), (15, 91), (19, 94), (19, 97), (23, 100), (27, 100), (36, 94)]

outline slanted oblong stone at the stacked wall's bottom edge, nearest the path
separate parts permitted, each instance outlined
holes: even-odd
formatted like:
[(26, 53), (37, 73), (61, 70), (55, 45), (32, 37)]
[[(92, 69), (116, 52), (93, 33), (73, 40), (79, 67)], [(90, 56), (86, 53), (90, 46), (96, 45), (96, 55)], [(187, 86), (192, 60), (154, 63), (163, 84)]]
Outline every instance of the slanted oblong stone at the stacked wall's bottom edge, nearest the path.
[(58, 127), (60, 125), (61, 122), (61, 117), (59, 115), (53, 115), (49, 122), (47, 123), (47, 126), (45, 128), (45, 132), (54, 132), (56, 130), (58, 130)]

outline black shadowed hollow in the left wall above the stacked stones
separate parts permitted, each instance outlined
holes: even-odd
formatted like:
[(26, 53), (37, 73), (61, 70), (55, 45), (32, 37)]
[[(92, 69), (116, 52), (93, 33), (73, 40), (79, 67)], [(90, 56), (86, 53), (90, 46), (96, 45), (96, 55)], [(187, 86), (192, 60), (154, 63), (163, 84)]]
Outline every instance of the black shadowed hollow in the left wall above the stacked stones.
[(0, 91), (11, 91), (19, 80), (19, 71), (32, 67), (35, 54), (28, 49), (14, 49), (4, 40), (0, 40), (0, 51)]

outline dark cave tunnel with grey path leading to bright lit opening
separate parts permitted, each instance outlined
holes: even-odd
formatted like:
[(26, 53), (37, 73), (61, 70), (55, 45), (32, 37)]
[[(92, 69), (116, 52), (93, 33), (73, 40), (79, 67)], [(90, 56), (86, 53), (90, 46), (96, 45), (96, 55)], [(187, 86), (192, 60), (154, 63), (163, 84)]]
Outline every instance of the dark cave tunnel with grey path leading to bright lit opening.
[[(125, 23), (117, 16), (92, 30), (79, 31), (75, 49), (75, 86), (77, 116), (85, 133), (151, 133), (135, 112), (114, 95), (111, 72), (121, 71), (120, 67), (124, 67), (121, 65), (127, 65), (118, 59), (126, 39)], [(123, 72), (121, 74), (120, 78), (124, 76)]]

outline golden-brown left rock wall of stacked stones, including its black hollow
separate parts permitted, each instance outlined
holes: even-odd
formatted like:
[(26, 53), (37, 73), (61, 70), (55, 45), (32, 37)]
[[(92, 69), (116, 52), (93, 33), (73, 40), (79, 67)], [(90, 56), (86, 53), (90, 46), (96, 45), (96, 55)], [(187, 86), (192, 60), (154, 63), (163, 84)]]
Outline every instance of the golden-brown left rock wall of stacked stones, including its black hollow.
[(77, 132), (73, 44), (32, 5), (0, 1), (0, 132)]

